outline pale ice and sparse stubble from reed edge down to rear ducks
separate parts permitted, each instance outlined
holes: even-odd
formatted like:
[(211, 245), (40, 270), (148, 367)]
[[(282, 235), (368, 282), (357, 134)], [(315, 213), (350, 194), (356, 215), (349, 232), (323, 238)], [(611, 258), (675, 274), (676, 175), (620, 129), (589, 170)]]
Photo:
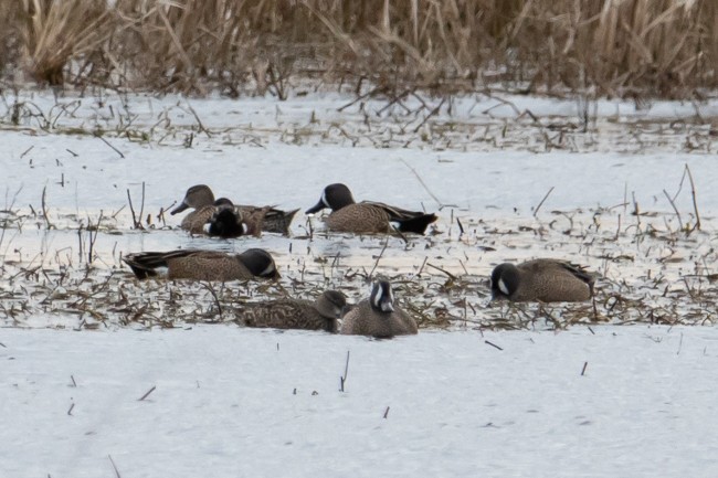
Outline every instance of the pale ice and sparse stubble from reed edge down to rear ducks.
[[(33, 206), (46, 187), (51, 208), (80, 214), (116, 211), (127, 204), (128, 189), (138, 202), (142, 183), (146, 205), (155, 212), (181, 200), (200, 179), (220, 195), (284, 208), (307, 209), (325, 185), (344, 181), (357, 199), (427, 210), (448, 204), (493, 216), (514, 208), (530, 214), (551, 187), (547, 209), (611, 206), (627, 192), (638, 203), (671, 211), (663, 189), (674, 194), (686, 164), (700, 179), (701, 205), (718, 203), (709, 187), (718, 174), (709, 155), (716, 102), (659, 102), (636, 110), (632, 103), (596, 100), (592, 121), (598, 127), (582, 134), (574, 129), (576, 100), (521, 96), (456, 98), (452, 115), (442, 110), (436, 117), (422, 108), (386, 111), (381, 99), (339, 111), (351, 96), (336, 94), (289, 102), (28, 96), (18, 99), (32, 105), (20, 128), (0, 131), (9, 172), (0, 185), (8, 201), (19, 191), (17, 203)], [(6, 98), (0, 117), (9, 115), (14, 99)], [(416, 102), (409, 102), (413, 107)], [(44, 111), (43, 120), (36, 109)], [(537, 121), (526, 121), (520, 114), (526, 110)], [(96, 130), (105, 137), (93, 137)], [(140, 132), (151, 140), (137, 138)], [(420, 140), (424, 136), (427, 141)], [(188, 138), (191, 148), (182, 147)], [(277, 187), (277, 176), (292, 182)], [(682, 194), (678, 205), (689, 206), (690, 196)], [(128, 213), (120, 217), (127, 221)]]

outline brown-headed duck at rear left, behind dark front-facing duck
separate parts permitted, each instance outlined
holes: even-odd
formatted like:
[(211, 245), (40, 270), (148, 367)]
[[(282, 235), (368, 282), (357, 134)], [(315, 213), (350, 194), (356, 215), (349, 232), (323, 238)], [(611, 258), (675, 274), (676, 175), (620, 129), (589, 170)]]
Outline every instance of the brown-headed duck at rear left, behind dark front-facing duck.
[[(190, 232), (197, 231), (196, 234), (201, 234), (204, 231), (204, 224), (212, 217), (214, 212), (218, 211), (218, 206), (233, 206), (237, 212), (237, 215), (245, 222), (250, 229), (256, 221), (256, 217), (261, 216), (262, 221), (260, 223), (261, 231), (274, 232), (284, 235), (289, 234), (289, 224), (292, 219), (299, 211), (295, 209), (293, 211), (281, 211), (272, 206), (253, 206), (253, 205), (236, 205), (228, 199), (222, 198), (218, 200), (220, 204), (217, 204), (214, 201), (214, 194), (212, 190), (205, 184), (197, 184), (187, 190), (184, 199), (182, 202), (171, 211), (171, 214), (180, 213), (188, 208), (193, 208), (194, 211), (189, 213), (182, 220), (181, 227)], [(253, 232), (251, 232), (252, 234)]]

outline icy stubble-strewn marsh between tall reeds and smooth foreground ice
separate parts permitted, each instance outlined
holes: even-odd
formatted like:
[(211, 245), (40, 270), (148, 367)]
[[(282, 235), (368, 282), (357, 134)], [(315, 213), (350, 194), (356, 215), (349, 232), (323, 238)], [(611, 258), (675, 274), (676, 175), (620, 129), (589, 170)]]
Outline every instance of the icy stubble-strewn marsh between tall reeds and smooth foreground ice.
[[(52, 108), (45, 97), (34, 100)], [(135, 115), (133, 128), (149, 135), (139, 140), (92, 98), (65, 98), (60, 102), (78, 102), (80, 108), (55, 113), (54, 129), (25, 118), (0, 130), (0, 320), (33, 327), (226, 321), (231, 304), (246, 297), (307, 297), (331, 287), (357, 301), (377, 275), (394, 280), (399, 299), (424, 327), (715, 320), (718, 190), (711, 184), (718, 170), (715, 158), (703, 153), (715, 141), (712, 106), (706, 106), (701, 124), (676, 104), (655, 105), (655, 114), (643, 116), (616, 116), (624, 105), (603, 105), (589, 132), (580, 134), (564, 128), (571, 113), (551, 113), (538, 98), (524, 107), (543, 111), (541, 127), (525, 116), (477, 113), (458, 102), (453, 116), (426, 121), (444, 128), (443, 136), (432, 140), (439, 129), (418, 131), (413, 136), (429, 132), (429, 139), (398, 148), (402, 138), (412, 138), (410, 118), (379, 115), (367, 124), (359, 111), (339, 114), (340, 100), (192, 100), (205, 128), (198, 129), (181, 98), (133, 97), (116, 110)], [(683, 115), (680, 128), (661, 116), (672, 110)], [(307, 121), (313, 114), (316, 121)], [(551, 130), (551, 121), (563, 125), (559, 132), (568, 142), (537, 155), (536, 138)], [(99, 124), (105, 137), (84, 134)], [(503, 128), (503, 139), (477, 140), (482, 127), (485, 137)], [(352, 142), (352, 135), (361, 140)], [(291, 237), (220, 241), (189, 236), (177, 227), (181, 215), (167, 213), (194, 183), (240, 203), (306, 210), (336, 181), (348, 183), (357, 200), (436, 212), (440, 220), (425, 236), (353, 236), (329, 234), (319, 217), (299, 212)], [(701, 229), (687, 234), (697, 212)], [(144, 231), (134, 229), (134, 216)], [(221, 287), (226, 296), (219, 295), (220, 305), (226, 300), (228, 307), (218, 318), (217, 299), (204, 287), (137, 284), (122, 262), (129, 252), (178, 247), (264, 247), (283, 277), (262, 287)], [(595, 304), (487, 307), (492, 268), (535, 257), (584, 264), (600, 274)], [(172, 306), (170, 315), (165, 301), (176, 294), (191, 300)], [(142, 307), (154, 310), (151, 318), (133, 319), (133, 308)]]

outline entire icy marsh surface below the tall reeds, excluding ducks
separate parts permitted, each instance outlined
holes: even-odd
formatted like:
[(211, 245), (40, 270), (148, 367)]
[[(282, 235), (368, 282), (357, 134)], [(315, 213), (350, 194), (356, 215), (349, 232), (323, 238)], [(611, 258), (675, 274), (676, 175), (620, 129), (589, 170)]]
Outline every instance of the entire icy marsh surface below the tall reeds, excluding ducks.
[[(0, 477), (718, 472), (718, 332), (648, 326), (718, 320), (717, 103), (3, 99)], [(440, 220), (353, 237), (300, 212), (291, 237), (214, 241), (161, 214), (196, 183), (304, 211), (339, 181)], [(120, 261), (253, 246), (278, 284), (137, 283)], [(545, 256), (599, 273), (594, 304), (487, 307), (496, 264)], [(324, 288), (356, 302), (372, 274), (418, 337), (193, 323)]]

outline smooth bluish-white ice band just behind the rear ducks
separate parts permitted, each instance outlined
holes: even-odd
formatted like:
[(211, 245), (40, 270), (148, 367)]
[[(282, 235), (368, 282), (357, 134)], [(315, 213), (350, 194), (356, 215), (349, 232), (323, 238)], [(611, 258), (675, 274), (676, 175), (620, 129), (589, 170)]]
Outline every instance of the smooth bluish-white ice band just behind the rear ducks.
[[(127, 205), (129, 189), (134, 203), (146, 184), (146, 210), (152, 213), (181, 201), (184, 191), (202, 180), (215, 194), (242, 196), (249, 203), (273, 203), (285, 209), (316, 204), (324, 187), (346, 182), (357, 200), (393, 201), (405, 206), (420, 204), (435, 211), (443, 204), (482, 215), (505, 215), (518, 209), (531, 213), (551, 187), (543, 206), (573, 210), (596, 205), (612, 206), (635, 193), (640, 203), (671, 211), (663, 194), (673, 195), (688, 164), (698, 179), (700, 204), (718, 204), (718, 191), (709, 185), (718, 181), (710, 156), (625, 157), (612, 153), (553, 152), (536, 158), (527, 152), (461, 152), (365, 150), (336, 146), (296, 147), (273, 145), (265, 149), (226, 148), (221, 150), (167, 149), (133, 144), (123, 145), (126, 158), (116, 157), (98, 139), (64, 137), (13, 137), (0, 147), (8, 158), (10, 172), (4, 191), (12, 198), (20, 188), (18, 204), (39, 208), (46, 185), (50, 208), (62, 208), (81, 215), (114, 212)], [(21, 153), (33, 146), (28, 158)], [(73, 158), (70, 149), (78, 158)], [(157, 157), (162, 160), (158, 161)], [(60, 161), (61, 166), (57, 166)], [(429, 191), (408, 168), (426, 182)], [(315, 164), (307, 167), (308, 163)], [(168, 176), (171, 171), (171, 176)], [(288, 187), (275, 187), (277, 171), (292, 178)], [(560, 173), (558, 173), (560, 171)], [(63, 176), (64, 174), (64, 176)], [(102, 177), (103, 181), (97, 181)], [(39, 180), (38, 178), (44, 178)], [(64, 185), (60, 184), (64, 178)], [(517, 191), (526, 191), (517, 194)], [(690, 209), (690, 195), (678, 198), (683, 209)], [(98, 204), (102, 198), (102, 204)], [(629, 200), (631, 198), (629, 196)], [(137, 205), (137, 204), (135, 204)], [(109, 211), (107, 211), (109, 210)], [(52, 210), (51, 210), (52, 212)], [(124, 216), (129, 216), (126, 208)]]

